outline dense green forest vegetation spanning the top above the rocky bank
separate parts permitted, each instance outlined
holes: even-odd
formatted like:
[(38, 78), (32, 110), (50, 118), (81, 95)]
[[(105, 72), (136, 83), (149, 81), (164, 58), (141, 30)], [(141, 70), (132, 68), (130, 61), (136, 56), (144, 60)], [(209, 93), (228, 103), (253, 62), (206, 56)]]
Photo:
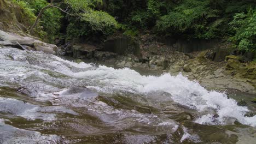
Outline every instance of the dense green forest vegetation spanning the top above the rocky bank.
[[(34, 31), (48, 41), (130, 37), (150, 33), (185, 39), (226, 38), (240, 50), (256, 51), (255, 0), (10, 0), (24, 9)], [(57, 7), (57, 8), (56, 8)], [(62, 9), (62, 11), (60, 9)]]

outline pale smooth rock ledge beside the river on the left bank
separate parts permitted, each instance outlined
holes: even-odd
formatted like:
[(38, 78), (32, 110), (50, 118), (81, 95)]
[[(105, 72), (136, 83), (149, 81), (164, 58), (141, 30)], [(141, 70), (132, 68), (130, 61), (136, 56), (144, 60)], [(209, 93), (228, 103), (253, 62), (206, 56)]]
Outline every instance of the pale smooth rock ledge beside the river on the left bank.
[(50, 53), (56, 55), (58, 47), (56, 45), (47, 44), (43, 41), (33, 39), (30, 37), (22, 37), (15, 33), (7, 33), (0, 31), (0, 45), (13, 46), (21, 49), (30, 49), (36, 51), (43, 51), (45, 53)]

